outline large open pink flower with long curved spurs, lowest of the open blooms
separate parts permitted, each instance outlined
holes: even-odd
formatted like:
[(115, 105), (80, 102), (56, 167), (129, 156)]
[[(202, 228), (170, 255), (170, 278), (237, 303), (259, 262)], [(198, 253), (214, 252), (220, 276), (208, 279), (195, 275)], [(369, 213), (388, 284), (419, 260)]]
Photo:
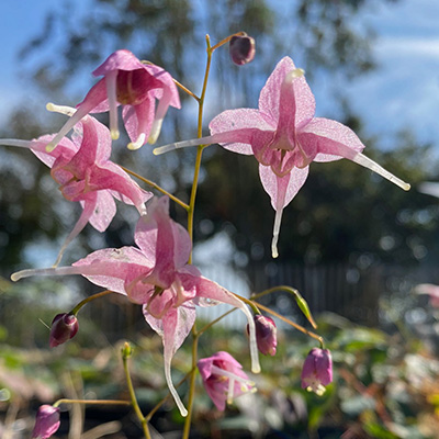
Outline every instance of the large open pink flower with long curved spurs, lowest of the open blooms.
[(33, 274), (82, 274), (92, 283), (124, 294), (142, 304), (148, 324), (164, 342), (165, 375), (183, 416), (187, 410), (172, 384), (171, 359), (195, 320), (195, 306), (218, 302), (240, 308), (250, 326), (252, 371), (260, 371), (255, 323), (247, 306), (217, 283), (203, 278), (188, 263), (191, 239), (188, 232), (169, 217), (169, 199), (154, 199), (148, 215), (142, 216), (135, 232), (137, 247), (98, 250), (72, 264), (12, 274), (16, 281)]

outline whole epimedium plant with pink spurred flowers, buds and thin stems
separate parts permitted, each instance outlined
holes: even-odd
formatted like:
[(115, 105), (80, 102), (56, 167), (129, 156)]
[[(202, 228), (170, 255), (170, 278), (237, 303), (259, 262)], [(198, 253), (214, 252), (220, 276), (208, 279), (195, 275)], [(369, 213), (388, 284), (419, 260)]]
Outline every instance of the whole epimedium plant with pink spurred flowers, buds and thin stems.
[[(55, 316), (49, 346), (56, 347), (71, 339), (78, 331), (77, 314), (89, 302), (108, 294), (119, 293), (142, 305), (149, 326), (161, 337), (164, 345), (165, 378), (169, 393), (180, 414), (185, 417), (183, 438), (189, 438), (195, 402), (195, 379), (200, 373), (204, 389), (217, 409), (226, 403), (256, 392), (256, 383), (241, 364), (228, 352), (212, 352), (199, 358), (201, 336), (225, 315), (203, 327), (196, 325), (196, 307), (229, 304), (247, 317), (251, 372), (259, 373), (258, 349), (274, 356), (277, 327), (274, 320), (261, 311), (291, 325), (318, 342), (304, 361), (302, 387), (318, 395), (333, 380), (333, 362), (322, 336), (292, 322), (259, 303), (258, 299), (278, 291), (291, 293), (313, 329), (316, 324), (305, 299), (293, 288), (280, 285), (243, 297), (204, 278), (192, 264), (193, 215), (203, 150), (212, 144), (245, 155), (254, 155), (259, 162), (262, 185), (270, 195), (275, 211), (272, 256), (278, 257), (277, 243), (283, 209), (304, 184), (312, 161), (333, 161), (348, 158), (383, 176), (404, 190), (409, 184), (399, 180), (362, 154), (364, 145), (347, 126), (326, 119), (315, 117), (314, 95), (305, 80), (304, 71), (284, 57), (277, 65), (259, 98), (259, 109), (227, 110), (210, 123), (211, 135), (203, 137), (203, 111), (211, 60), (214, 52), (228, 44), (232, 60), (244, 65), (255, 56), (255, 41), (244, 32), (230, 35), (216, 45), (206, 36), (206, 68), (200, 95), (173, 79), (162, 67), (137, 59), (123, 49), (110, 55), (94, 70), (103, 76), (76, 109), (48, 104), (49, 111), (66, 114), (69, 119), (57, 134), (33, 140), (0, 139), (0, 144), (31, 149), (45, 165), (60, 185), (63, 195), (79, 202), (81, 216), (61, 246), (55, 264), (45, 269), (26, 269), (12, 274), (13, 281), (31, 275), (80, 274), (104, 291), (78, 303), (70, 312)], [(189, 203), (167, 192), (155, 182), (122, 168), (110, 160), (113, 142), (120, 136), (117, 106), (130, 136), (128, 149), (154, 144), (161, 130), (169, 106), (180, 108), (178, 89), (192, 97), (198, 105), (198, 138), (156, 148), (155, 154), (196, 146), (194, 176)], [(109, 111), (110, 128), (92, 115)], [(74, 131), (70, 138), (66, 137)], [(142, 189), (133, 177), (159, 192), (155, 196)], [(68, 245), (90, 223), (104, 232), (116, 213), (114, 199), (134, 205), (139, 219), (134, 235), (135, 246), (106, 248), (93, 251), (71, 266), (59, 267)], [(188, 213), (187, 227), (169, 215), (169, 203), (177, 203)], [(171, 376), (171, 360), (187, 337), (192, 334), (192, 362), (183, 381), (189, 382), (187, 395)], [(164, 398), (149, 414), (144, 414), (137, 403), (128, 359), (130, 344), (122, 349), (122, 360), (130, 392), (127, 401), (59, 399), (38, 410), (33, 438), (48, 438), (59, 427), (59, 406), (70, 404), (131, 405), (143, 427), (145, 438), (150, 438), (149, 420)], [(183, 402), (183, 399), (185, 402)]]

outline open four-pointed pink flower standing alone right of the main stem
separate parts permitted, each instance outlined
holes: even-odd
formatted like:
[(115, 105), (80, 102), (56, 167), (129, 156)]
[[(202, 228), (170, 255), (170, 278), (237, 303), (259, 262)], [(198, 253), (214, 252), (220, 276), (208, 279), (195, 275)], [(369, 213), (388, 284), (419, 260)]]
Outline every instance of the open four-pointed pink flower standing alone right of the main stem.
[(409, 184), (363, 156), (364, 145), (347, 126), (315, 117), (314, 95), (291, 58), (284, 57), (262, 88), (259, 109), (227, 110), (210, 123), (211, 136), (166, 145), (155, 154), (187, 146), (218, 143), (232, 151), (254, 155), (263, 189), (275, 211), (272, 256), (283, 209), (304, 184), (312, 161), (347, 158), (370, 168), (404, 190)]

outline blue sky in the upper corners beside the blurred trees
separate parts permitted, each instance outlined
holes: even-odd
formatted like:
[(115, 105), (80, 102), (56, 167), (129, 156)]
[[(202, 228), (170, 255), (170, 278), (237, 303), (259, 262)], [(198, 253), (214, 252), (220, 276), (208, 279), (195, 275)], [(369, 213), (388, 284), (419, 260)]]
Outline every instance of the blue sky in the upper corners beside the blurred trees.
[[(77, 3), (87, 5), (88, 1)], [(16, 52), (41, 31), (47, 11), (59, 4), (59, 0), (0, 2), (0, 124), (16, 95), (26, 92)], [(439, 147), (438, 23), (439, 1), (435, 0), (374, 0), (358, 18), (359, 25), (368, 24), (378, 34), (373, 52), (379, 68), (342, 86), (352, 108), (364, 119), (368, 133), (380, 134), (383, 146), (397, 147), (392, 144), (394, 134), (410, 126), (420, 142)], [(326, 87), (325, 81), (313, 85), (317, 114), (334, 116), (331, 101), (325, 99)], [(42, 105), (47, 100), (42, 98)]]

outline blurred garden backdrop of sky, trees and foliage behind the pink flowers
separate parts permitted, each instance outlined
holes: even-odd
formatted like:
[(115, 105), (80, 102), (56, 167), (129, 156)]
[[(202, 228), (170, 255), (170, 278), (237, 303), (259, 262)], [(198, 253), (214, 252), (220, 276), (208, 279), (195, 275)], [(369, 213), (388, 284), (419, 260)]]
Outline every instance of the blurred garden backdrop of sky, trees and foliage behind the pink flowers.
[[(281, 326), (284, 345), (277, 360), (266, 360), (273, 373), (258, 384), (263, 391), (252, 405), (255, 412), (247, 413), (241, 404), (229, 417), (221, 417), (202, 401), (194, 437), (222, 437), (222, 431), (236, 437), (435, 437), (438, 312), (426, 295), (414, 294), (414, 286), (439, 283), (439, 204), (417, 190), (424, 181), (439, 180), (438, 19), (439, 3), (429, 0), (0, 4), (2, 138), (31, 139), (57, 132), (64, 116), (46, 112), (45, 104), (80, 102), (95, 82), (91, 71), (119, 48), (162, 66), (199, 93), (205, 34), (215, 44), (246, 31), (256, 40), (251, 64), (233, 65), (226, 47), (214, 54), (204, 134), (219, 112), (256, 108), (268, 76), (288, 55), (306, 71), (316, 115), (350, 126), (367, 145), (365, 155), (412, 184), (412, 191), (403, 192), (347, 160), (312, 164), (305, 185), (284, 210), (280, 258), (273, 260), (274, 212), (256, 160), (217, 146), (205, 150), (194, 263), (203, 274), (244, 295), (279, 284), (296, 288), (319, 318), (340, 372), (324, 398), (301, 392), (299, 371), (312, 344)], [(182, 110), (168, 112), (157, 145), (195, 137), (196, 105), (182, 93), (181, 99)], [(126, 143), (126, 137), (115, 143), (114, 161), (188, 201), (194, 150), (155, 157), (150, 146), (133, 153)], [(55, 314), (99, 290), (70, 277), (18, 284), (9, 277), (23, 268), (52, 266), (80, 207), (61, 198), (47, 168), (27, 150), (1, 147), (0, 176), (0, 436), (3, 431), (9, 438), (26, 437), (32, 424), (26, 414), (41, 402), (65, 394), (113, 397), (123, 392), (115, 347), (125, 338), (139, 346), (136, 378), (145, 404), (155, 404), (159, 391), (153, 384), (162, 383), (161, 370), (157, 372), (160, 340), (150, 335), (134, 305), (117, 297), (92, 303), (81, 311), (77, 339), (55, 353), (46, 350), (48, 330), (40, 319), (49, 324)], [(180, 207), (172, 206), (172, 216), (185, 224)], [(109, 229), (99, 234), (87, 226), (63, 264), (99, 248), (132, 245), (136, 218), (135, 210), (119, 204)], [(289, 296), (274, 294), (264, 303), (304, 324)], [(210, 308), (202, 317), (212, 319), (222, 312)], [(212, 334), (211, 345), (246, 349), (245, 337), (227, 335), (241, 333), (237, 315)], [(232, 340), (230, 346), (222, 337)], [(188, 354), (177, 357), (177, 373), (185, 373)], [(81, 413), (71, 416), (76, 425), (82, 419)], [(88, 418), (93, 416), (99, 419), (102, 414), (88, 412)], [(180, 428), (177, 418), (167, 407), (155, 425), (173, 437), (170, 431)], [(138, 435), (126, 434), (125, 421), (121, 423), (125, 434), (112, 425), (119, 431), (114, 438)], [(70, 429), (70, 437), (81, 437), (79, 430)], [(102, 432), (90, 437), (97, 435)]]

